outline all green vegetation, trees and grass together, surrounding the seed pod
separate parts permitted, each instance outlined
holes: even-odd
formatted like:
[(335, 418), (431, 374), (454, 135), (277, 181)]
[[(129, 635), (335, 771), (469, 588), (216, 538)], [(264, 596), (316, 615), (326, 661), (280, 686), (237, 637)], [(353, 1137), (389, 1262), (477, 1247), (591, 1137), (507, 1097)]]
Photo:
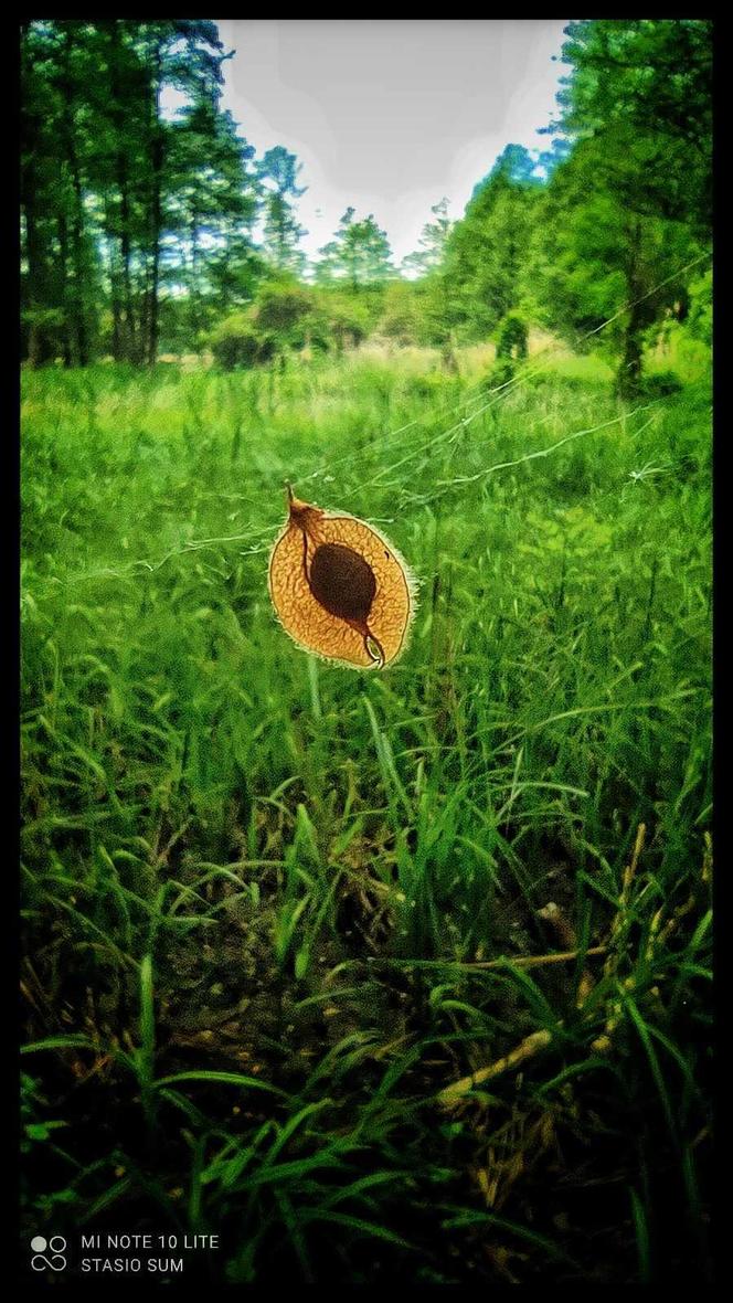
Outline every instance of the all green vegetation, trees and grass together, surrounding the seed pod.
[[(23, 25), (26, 1239), (712, 1278), (711, 44), (569, 23), (397, 268), (215, 23)], [(392, 670), (277, 627), (285, 480), (415, 569)]]

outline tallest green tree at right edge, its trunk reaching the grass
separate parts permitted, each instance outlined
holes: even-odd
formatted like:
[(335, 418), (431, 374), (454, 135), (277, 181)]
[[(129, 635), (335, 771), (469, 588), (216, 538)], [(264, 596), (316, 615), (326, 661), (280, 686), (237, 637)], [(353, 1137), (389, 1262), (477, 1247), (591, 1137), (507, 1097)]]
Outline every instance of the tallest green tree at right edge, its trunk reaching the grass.
[(549, 186), (548, 297), (565, 300), (575, 327), (609, 315), (613, 291), (631, 305), (618, 386), (633, 395), (642, 336), (685, 294), (710, 240), (712, 29), (707, 20), (586, 20), (566, 33), (573, 72), (555, 128), (578, 143)]

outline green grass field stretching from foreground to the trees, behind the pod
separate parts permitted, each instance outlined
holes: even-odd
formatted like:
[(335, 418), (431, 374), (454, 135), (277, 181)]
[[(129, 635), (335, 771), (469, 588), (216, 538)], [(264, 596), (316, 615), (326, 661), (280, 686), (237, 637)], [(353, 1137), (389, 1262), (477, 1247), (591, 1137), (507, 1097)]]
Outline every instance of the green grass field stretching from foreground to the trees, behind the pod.
[[(23, 375), (27, 1227), (708, 1278), (710, 384), (572, 364)], [(285, 480), (419, 577), (393, 668), (276, 623)]]

